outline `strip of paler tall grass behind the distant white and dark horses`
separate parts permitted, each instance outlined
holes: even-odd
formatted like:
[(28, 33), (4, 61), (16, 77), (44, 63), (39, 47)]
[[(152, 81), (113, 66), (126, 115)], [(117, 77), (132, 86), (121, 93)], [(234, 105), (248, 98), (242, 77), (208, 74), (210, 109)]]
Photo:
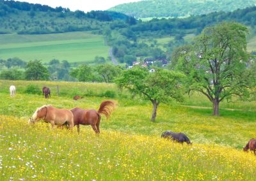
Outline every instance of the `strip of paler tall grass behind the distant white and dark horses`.
[[(10, 85), (15, 85), (17, 92), (42, 94), (42, 87), (49, 87), (52, 96), (99, 96), (115, 98), (120, 94), (114, 83), (83, 83), (83, 82), (49, 82), (0, 80), (0, 92), (9, 92)], [(29, 90), (33, 88), (33, 91)], [(35, 90), (34, 90), (35, 89)], [(125, 93), (127, 94), (127, 93)]]

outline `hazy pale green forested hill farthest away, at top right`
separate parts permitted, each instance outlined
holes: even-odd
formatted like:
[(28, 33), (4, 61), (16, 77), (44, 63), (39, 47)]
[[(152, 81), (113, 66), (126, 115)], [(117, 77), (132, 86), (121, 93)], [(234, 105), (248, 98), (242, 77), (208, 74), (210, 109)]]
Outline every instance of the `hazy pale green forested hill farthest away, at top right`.
[(145, 0), (125, 3), (110, 8), (136, 18), (188, 17), (204, 15), (214, 11), (234, 11), (255, 6), (256, 0)]

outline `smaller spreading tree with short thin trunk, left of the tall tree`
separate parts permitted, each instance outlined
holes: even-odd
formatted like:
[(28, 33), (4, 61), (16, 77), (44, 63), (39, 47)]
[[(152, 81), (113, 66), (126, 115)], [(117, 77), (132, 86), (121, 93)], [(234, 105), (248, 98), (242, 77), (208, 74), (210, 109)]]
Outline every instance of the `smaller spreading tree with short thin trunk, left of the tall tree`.
[(181, 100), (182, 89), (180, 82), (184, 75), (175, 71), (157, 69), (150, 73), (148, 69), (134, 67), (123, 71), (122, 76), (116, 79), (119, 87), (125, 87), (132, 94), (140, 94), (151, 101), (153, 112), (151, 121), (156, 120), (157, 107), (170, 98)]

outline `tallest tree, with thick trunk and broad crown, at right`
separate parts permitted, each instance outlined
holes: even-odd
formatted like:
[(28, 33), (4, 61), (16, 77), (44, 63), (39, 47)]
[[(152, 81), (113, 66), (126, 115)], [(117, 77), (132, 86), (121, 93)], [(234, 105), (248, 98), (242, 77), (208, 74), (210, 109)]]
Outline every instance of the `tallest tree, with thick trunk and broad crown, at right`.
[(172, 65), (188, 78), (188, 91), (204, 94), (213, 105), (213, 115), (220, 115), (219, 104), (232, 96), (248, 96), (253, 78), (246, 53), (247, 29), (238, 23), (207, 27), (193, 46), (173, 52)]

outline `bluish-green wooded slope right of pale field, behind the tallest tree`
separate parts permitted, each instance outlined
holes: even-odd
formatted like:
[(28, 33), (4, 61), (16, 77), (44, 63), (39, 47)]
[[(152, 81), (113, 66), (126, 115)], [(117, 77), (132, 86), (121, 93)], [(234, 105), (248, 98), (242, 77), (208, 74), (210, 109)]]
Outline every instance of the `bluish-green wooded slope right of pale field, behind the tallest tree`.
[[(138, 21), (127, 24), (120, 20), (110, 22), (103, 31), (108, 45), (113, 46), (113, 54), (120, 62), (131, 65), (136, 59), (168, 58), (175, 47), (187, 44), (184, 40), (186, 34), (200, 34), (202, 29), (209, 25), (223, 21), (241, 22), (252, 27), (255, 34), (256, 7), (245, 8), (232, 12), (213, 12), (207, 15), (191, 16), (188, 18), (153, 18), (150, 21)], [(173, 36), (174, 40), (166, 43), (164, 48), (157, 44), (157, 38)], [(147, 40), (148, 43), (145, 41)]]

